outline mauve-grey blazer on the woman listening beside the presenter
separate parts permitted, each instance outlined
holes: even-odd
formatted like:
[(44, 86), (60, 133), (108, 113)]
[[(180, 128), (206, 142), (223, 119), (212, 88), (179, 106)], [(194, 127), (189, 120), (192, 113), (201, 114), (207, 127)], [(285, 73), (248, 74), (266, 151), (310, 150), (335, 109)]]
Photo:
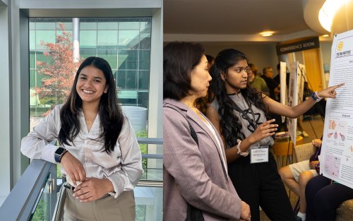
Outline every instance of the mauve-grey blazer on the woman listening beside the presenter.
[[(203, 210), (205, 220), (239, 220), (241, 199), (222, 163), (225, 150), (217, 131), (221, 149), (208, 126), (189, 107), (172, 99), (163, 102), (164, 221), (185, 220), (186, 202)], [(168, 106), (188, 119), (199, 145), (191, 137), (186, 119)]]

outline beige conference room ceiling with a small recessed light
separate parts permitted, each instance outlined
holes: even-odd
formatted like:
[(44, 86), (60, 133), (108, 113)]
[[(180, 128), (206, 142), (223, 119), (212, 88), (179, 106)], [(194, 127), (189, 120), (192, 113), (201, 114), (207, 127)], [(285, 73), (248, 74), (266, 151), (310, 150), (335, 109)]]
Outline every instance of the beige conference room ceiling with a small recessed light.
[[(215, 44), (261, 43), (318, 36), (323, 33), (316, 28), (318, 17), (313, 16), (313, 13), (318, 13), (323, 2), (323, 0), (164, 0), (164, 42), (186, 40)], [(314, 28), (309, 28), (308, 23)], [(259, 35), (259, 32), (266, 30), (274, 31), (275, 34), (271, 37)]]

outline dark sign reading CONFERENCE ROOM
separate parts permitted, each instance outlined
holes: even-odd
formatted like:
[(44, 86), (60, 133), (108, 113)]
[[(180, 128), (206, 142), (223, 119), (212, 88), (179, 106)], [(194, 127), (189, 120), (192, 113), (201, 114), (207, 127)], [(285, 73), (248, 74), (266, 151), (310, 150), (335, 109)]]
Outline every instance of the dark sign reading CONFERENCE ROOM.
[(305, 40), (299, 40), (288, 44), (280, 43), (276, 45), (278, 55), (288, 54), (292, 52), (300, 52), (307, 49), (313, 49), (318, 47), (320, 47), (318, 37), (311, 37)]

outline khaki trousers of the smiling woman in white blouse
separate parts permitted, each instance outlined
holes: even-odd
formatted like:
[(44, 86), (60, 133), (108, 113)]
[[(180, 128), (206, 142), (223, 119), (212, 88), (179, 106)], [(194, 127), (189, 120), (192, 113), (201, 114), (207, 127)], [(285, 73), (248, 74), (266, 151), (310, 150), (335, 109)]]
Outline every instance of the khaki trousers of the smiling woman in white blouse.
[(134, 221), (135, 198), (133, 191), (124, 191), (118, 198), (109, 194), (97, 201), (81, 203), (66, 189), (64, 221)]

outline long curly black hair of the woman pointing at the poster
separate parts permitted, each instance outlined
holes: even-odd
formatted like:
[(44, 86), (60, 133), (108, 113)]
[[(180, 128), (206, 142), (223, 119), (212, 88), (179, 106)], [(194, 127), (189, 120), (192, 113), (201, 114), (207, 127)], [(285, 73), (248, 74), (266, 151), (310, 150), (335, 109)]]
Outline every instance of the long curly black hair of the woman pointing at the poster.
[[(233, 113), (234, 102), (229, 95), (227, 95), (225, 81), (222, 80), (221, 73), (228, 73), (228, 69), (241, 60), (248, 61), (244, 53), (236, 49), (225, 49), (216, 56), (215, 63), (210, 69), (213, 78), (210, 87), (220, 105), (218, 114), (220, 115), (221, 133), (225, 138), (227, 146), (236, 145), (237, 139), (244, 139), (245, 135), (241, 132), (239, 118)], [(261, 93), (257, 90), (247, 86), (241, 89), (240, 92), (244, 99), (249, 100), (251, 104), (267, 112), (263, 104)]]

